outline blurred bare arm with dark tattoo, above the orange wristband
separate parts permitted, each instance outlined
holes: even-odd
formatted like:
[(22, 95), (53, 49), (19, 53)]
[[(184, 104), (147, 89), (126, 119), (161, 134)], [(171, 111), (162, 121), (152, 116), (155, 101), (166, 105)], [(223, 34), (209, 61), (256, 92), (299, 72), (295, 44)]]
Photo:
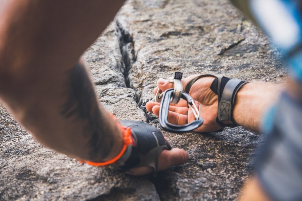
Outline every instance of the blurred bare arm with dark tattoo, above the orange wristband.
[(9, 2), (0, 21), (0, 97), (44, 145), (92, 161), (120, 151), (121, 131), (77, 61), (123, 2)]

